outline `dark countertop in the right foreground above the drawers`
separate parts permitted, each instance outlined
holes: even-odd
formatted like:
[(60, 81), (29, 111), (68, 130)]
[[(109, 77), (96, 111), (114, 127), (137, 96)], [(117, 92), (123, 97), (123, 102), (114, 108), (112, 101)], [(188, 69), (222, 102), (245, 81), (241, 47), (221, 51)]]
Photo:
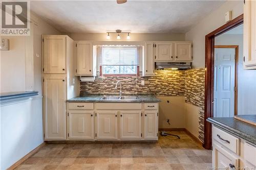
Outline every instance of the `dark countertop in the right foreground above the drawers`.
[(256, 126), (233, 117), (209, 117), (207, 122), (256, 146)]

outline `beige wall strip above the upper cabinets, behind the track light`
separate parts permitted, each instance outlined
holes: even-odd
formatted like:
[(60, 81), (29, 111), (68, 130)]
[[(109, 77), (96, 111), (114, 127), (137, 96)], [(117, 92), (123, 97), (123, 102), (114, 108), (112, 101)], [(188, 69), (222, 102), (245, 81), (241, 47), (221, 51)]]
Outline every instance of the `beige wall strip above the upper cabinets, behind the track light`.
[[(115, 34), (111, 34), (110, 40), (106, 39), (105, 33), (70, 33), (73, 40), (93, 40), (93, 41), (117, 41)], [(131, 34), (131, 39), (126, 40), (126, 34), (120, 34), (119, 41), (185, 41), (185, 34)]]

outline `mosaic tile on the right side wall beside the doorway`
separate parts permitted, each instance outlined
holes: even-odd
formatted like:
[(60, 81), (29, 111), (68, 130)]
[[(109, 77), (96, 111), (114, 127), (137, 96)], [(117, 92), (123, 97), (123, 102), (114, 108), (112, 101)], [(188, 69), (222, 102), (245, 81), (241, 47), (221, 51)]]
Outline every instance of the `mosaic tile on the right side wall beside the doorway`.
[(200, 107), (199, 139), (204, 141), (204, 68), (185, 71), (185, 102)]

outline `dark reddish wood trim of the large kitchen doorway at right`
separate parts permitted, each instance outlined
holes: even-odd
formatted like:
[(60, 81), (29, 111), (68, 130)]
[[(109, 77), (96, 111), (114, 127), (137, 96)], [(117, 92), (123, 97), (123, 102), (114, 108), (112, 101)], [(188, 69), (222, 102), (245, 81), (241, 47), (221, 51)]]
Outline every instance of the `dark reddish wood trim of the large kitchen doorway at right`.
[(204, 99), (204, 144), (205, 149), (211, 149), (211, 124), (206, 121), (208, 117), (213, 117), (214, 107), (214, 42), (215, 37), (223, 34), (244, 22), (244, 15), (227, 22), (220, 28), (205, 36), (205, 99)]

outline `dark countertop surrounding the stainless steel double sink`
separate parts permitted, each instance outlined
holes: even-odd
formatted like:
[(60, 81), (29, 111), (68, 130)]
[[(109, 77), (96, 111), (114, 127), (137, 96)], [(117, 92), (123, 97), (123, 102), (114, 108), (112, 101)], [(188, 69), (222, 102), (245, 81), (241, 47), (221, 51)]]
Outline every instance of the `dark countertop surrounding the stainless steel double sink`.
[[(100, 102), (100, 103), (158, 103), (160, 99), (156, 98), (155, 95), (137, 95), (138, 100), (102, 100), (101, 98), (105, 95), (85, 95), (77, 96), (67, 100), (67, 102)], [(123, 95), (125, 96), (125, 95)]]

